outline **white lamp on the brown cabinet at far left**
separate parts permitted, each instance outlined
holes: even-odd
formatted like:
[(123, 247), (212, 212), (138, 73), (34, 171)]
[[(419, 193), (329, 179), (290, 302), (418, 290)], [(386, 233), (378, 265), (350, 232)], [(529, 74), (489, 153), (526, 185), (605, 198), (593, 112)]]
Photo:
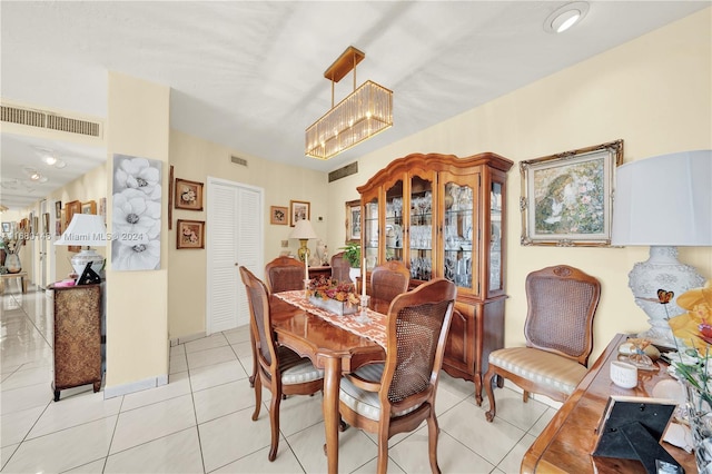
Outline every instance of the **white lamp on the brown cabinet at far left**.
[(91, 261), (91, 269), (97, 274), (103, 266), (103, 257), (97, 254), (90, 246), (106, 247), (107, 228), (103, 225), (103, 217), (92, 214), (75, 214), (65, 234), (55, 245), (78, 245), (87, 246), (86, 249), (71, 257), (71, 266), (79, 276), (85, 267)]

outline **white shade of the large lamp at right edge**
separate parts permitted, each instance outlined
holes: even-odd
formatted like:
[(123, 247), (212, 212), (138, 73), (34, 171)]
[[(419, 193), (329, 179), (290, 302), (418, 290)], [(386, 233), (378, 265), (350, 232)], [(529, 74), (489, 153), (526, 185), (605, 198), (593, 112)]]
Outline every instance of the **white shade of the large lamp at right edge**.
[(611, 243), (711, 246), (712, 150), (662, 155), (620, 166)]

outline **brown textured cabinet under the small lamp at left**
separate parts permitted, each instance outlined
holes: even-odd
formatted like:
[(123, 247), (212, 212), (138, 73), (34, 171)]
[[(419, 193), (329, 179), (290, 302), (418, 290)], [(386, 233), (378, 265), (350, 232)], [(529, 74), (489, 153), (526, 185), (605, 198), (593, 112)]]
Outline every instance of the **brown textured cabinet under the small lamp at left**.
[(60, 391), (93, 384), (101, 389), (101, 284), (56, 287), (55, 402)]

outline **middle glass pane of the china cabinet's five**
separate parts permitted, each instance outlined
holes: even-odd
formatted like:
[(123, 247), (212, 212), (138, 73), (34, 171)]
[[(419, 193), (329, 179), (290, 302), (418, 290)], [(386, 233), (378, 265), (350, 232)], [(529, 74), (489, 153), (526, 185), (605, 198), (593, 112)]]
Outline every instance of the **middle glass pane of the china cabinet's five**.
[(427, 282), (433, 278), (433, 180), (411, 177), (409, 257), (411, 278)]

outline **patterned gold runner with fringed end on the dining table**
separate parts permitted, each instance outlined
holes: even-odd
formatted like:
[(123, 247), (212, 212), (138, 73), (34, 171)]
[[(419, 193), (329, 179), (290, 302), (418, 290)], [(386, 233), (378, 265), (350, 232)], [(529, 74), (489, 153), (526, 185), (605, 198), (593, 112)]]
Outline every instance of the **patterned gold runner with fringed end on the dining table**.
[(368, 317), (370, 318), (369, 323), (358, 323), (356, 319), (360, 316), (360, 312), (354, 313), (352, 315), (339, 316), (326, 309), (319, 308), (318, 306), (309, 303), (308, 299), (304, 298), (303, 289), (295, 289), (291, 292), (279, 292), (274, 294), (277, 298), (283, 302), (287, 302), (293, 306), (298, 307), (305, 312), (312, 313), (320, 317), (324, 320), (332, 323), (335, 326), (340, 327), (342, 329), (346, 329), (349, 333), (354, 333), (357, 336), (366, 337), (374, 343), (382, 346), (384, 349), (386, 348), (386, 318), (387, 316), (382, 313), (376, 313), (372, 309), (367, 309)]

